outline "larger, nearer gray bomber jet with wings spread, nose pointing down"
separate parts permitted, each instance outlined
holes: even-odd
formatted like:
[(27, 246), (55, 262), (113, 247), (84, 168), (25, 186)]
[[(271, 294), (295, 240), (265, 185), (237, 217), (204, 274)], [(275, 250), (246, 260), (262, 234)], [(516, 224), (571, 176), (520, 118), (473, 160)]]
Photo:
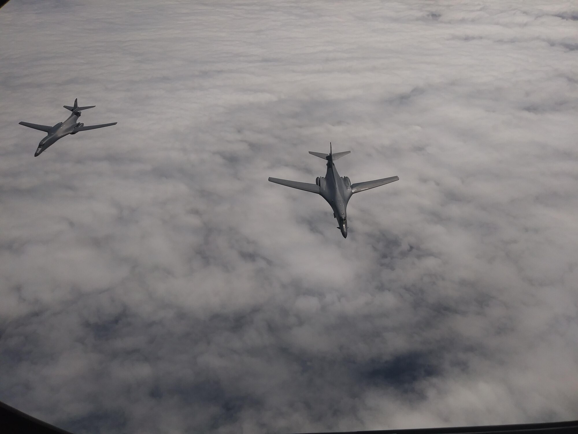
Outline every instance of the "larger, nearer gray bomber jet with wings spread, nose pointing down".
[(305, 190), (306, 192), (317, 193), (323, 197), (331, 208), (333, 209), (333, 216), (337, 219), (339, 226), (337, 229), (341, 230), (343, 238), (347, 238), (347, 203), (354, 193), (364, 192), (380, 185), (386, 185), (390, 182), (398, 181), (398, 176), (390, 176), (390, 178), (376, 179), (375, 181), (357, 182), (352, 184), (347, 176), (339, 176), (335, 164), (335, 160), (351, 153), (350, 150), (345, 152), (338, 152), (334, 154), (331, 149), (331, 142), (329, 143), (329, 154), (321, 152), (311, 152), (319, 158), (327, 160), (327, 173), (325, 178), (319, 176), (314, 184), (297, 181), (287, 181), (287, 179), (269, 178), (269, 181), (277, 184), (292, 187), (294, 189)]

